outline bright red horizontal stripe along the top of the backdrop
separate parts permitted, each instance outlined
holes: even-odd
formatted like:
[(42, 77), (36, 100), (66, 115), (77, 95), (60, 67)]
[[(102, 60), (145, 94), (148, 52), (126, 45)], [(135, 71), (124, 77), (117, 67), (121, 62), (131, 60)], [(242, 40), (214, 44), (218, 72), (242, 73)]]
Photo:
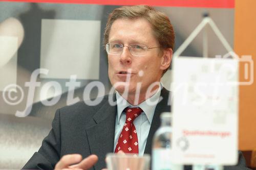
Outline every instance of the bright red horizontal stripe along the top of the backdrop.
[[(0, 0), (3, 1), (3, 0)], [(8, 0), (5, 0), (8, 1)], [(234, 8), (234, 0), (9, 0), (9, 2), (98, 4), (98, 5), (150, 5), (197, 8)]]

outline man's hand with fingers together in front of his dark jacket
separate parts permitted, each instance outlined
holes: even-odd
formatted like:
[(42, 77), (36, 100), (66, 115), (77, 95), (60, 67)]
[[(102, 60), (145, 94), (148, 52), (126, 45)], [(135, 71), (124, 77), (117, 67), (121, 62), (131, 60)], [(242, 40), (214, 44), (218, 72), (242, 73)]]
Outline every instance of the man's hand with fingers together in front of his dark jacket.
[[(96, 155), (90, 155), (82, 160), (82, 156), (79, 154), (71, 154), (63, 156), (55, 165), (55, 170), (58, 169), (83, 169), (87, 170), (91, 168), (98, 161)], [(76, 163), (76, 164), (75, 164)]]

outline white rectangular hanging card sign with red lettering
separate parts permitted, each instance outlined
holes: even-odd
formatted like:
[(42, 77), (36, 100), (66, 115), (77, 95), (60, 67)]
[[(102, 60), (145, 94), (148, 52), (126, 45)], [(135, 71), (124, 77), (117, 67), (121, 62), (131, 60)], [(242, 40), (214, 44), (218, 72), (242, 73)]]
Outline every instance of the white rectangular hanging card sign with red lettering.
[(177, 57), (173, 63), (174, 162), (236, 164), (239, 61)]

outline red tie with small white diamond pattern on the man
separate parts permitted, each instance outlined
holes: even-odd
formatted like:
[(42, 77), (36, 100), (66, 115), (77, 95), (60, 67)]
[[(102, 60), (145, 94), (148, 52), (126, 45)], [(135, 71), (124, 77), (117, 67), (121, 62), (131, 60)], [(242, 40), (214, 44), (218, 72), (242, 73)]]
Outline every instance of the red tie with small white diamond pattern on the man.
[(133, 121), (138, 117), (143, 110), (141, 108), (126, 108), (126, 120), (123, 130), (118, 138), (115, 153), (123, 151), (124, 153), (139, 153), (138, 137)]

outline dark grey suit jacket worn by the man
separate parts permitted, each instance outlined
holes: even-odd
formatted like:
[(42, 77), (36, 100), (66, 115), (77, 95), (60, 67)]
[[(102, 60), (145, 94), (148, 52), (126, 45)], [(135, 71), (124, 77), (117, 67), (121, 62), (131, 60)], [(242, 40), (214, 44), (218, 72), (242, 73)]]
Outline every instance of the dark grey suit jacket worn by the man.
[[(147, 137), (146, 154), (151, 154), (153, 135), (160, 126), (160, 114), (170, 111), (169, 91), (163, 88), (161, 96), (163, 100), (156, 107)], [(83, 158), (95, 154), (99, 160), (92, 169), (106, 167), (105, 155), (114, 151), (116, 113), (117, 106), (109, 104), (108, 95), (97, 106), (79, 102), (58, 109), (52, 122), (52, 130), (23, 169), (54, 169), (63, 155), (72, 153), (81, 154)], [(191, 166), (185, 166), (185, 169), (191, 169)], [(227, 166), (225, 169), (246, 169), (242, 154), (239, 154), (237, 166)]]

